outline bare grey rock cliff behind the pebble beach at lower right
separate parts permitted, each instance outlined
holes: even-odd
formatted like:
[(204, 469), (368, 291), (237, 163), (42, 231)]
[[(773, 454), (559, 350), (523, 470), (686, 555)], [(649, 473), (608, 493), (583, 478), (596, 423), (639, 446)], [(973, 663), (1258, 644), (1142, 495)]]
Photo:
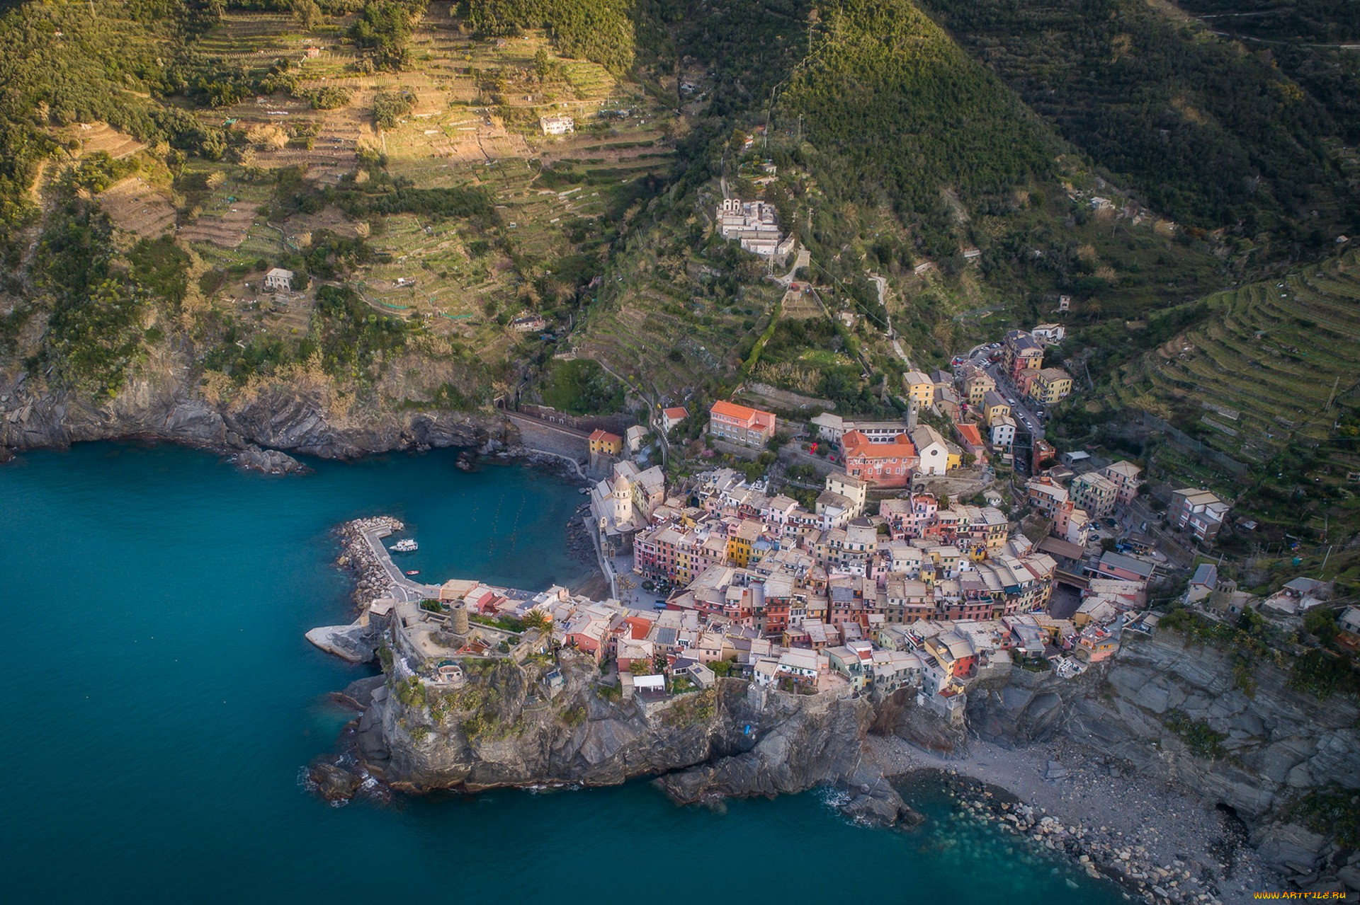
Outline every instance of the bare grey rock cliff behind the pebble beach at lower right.
[(1250, 677), (1234, 667), (1231, 651), (1176, 633), (1125, 633), (1112, 660), (1077, 679), (1017, 669), (1004, 685), (970, 690), (968, 720), (1012, 746), (1065, 734), (1180, 783), (1234, 809), (1276, 867), (1326, 872), (1341, 849), (1296, 822), (1297, 806), (1310, 788), (1360, 787), (1360, 707), (1291, 689), (1272, 664)]

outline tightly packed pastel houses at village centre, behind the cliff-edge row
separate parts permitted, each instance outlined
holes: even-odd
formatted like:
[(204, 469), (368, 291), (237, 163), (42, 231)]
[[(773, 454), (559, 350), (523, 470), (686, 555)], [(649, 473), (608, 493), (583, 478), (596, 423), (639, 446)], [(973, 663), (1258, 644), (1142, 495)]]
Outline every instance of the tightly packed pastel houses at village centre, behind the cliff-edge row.
[[(1000, 510), (941, 507), (917, 493), (864, 515), (862, 486), (832, 474), (821, 511), (809, 512), (751, 488), (730, 469), (706, 473), (685, 493), (698, 505), (661, 507), (636, 533), (635, 571), (683, 588), (665, 606), (721, 614), (766, 635), (806, 624), (836, 631), (853, 624), (872, 635), (883, 625), (1044, 609), (1057, 561), (1010, 534)], [(1118, 591), (1123, 611), (1141, 602), (1145, 578), (1102, 590)]]

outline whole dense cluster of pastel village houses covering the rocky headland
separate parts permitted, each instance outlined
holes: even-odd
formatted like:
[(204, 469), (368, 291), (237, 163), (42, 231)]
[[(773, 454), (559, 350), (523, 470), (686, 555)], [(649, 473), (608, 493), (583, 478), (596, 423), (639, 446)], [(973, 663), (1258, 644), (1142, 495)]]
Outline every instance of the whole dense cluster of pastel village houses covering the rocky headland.
[[(601, 535), (670, 587), (656, 607), (446, 582), (434, 602), (370, 606), (398, 636), (400, 669), (457, 684), (460, 658), (522, 660), (555, 644), (613, 660), (623, 693), (643, 704), (732, 674), (806, 693), (917, 689), (956, 719), (972, 681), (1024, 660), (1070, 677), (1152, 624), (1133, 613), (1151, 576), (1137, 560), (1102, 557), (1081, 606), (1055, 618), (1059, 558), (1012, 534), (998, 508), (915, 493), (868, 514), (868, 482), (849, 474), (828, 476), (809, 512), (732, 469), (668, 493), (660, 469), (616, 462), (590, 507)], [(534, 610), (551, 617), (551, 639), (503, 628)]]

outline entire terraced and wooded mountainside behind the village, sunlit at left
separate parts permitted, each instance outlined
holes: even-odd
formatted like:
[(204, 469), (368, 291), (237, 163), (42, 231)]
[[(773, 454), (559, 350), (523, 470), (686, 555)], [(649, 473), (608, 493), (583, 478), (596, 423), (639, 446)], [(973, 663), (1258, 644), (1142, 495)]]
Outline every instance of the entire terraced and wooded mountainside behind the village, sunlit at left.
[[(1333, 7), (8, 4), (3, 374), (354, 412), (558, 398), (590, 357), (611, 405), (887, 413), (889, 323), (933, 367), (1069, 295), (1099, 340), (1360, 226)], [(826, 307), (715, 236), (724, 193), (774, 204)]]

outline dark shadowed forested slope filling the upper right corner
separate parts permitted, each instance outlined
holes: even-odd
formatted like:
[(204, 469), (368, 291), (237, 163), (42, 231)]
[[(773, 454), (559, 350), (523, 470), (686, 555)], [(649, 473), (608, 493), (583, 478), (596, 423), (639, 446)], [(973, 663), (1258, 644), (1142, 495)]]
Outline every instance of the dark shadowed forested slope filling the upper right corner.
[[(1306, 90), (1281, 71), (1273, 53), (1287, 42), (1217, 39), (1214, 26), (1140, 0), (923, 4), (1068, 141), (1159, 212), (1314, 250), (1356, 223), (1338, 147), (1353, 136), (1352, 99), (1344, 90)], [(1326, 29), (1348, 30), (1342, 22)]]

